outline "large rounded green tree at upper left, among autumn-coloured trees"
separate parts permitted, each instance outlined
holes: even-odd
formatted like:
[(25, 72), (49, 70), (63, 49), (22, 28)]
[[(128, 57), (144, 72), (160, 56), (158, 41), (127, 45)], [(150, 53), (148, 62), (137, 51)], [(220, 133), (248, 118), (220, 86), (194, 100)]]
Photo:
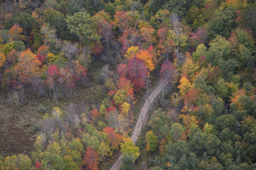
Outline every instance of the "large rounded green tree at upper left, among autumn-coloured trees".
[(70, 32), (79, 36), (85, 43), (98, 41), (100, 36), (96, 33), (95, 19), (86, 12), (77, 12), (67, 17), (67, 26)]

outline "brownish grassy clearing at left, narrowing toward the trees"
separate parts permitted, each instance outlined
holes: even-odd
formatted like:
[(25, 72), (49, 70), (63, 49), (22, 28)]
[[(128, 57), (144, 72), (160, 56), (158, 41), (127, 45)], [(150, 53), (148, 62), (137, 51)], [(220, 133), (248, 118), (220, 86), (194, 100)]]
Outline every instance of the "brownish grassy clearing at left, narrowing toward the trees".
[[(95, 69), (91, 73), (95, 73)], [(89, 73), (88, 77), (90, 79), (88, 87), (77, 87), (72, 96), (58, 101), (29, 94), (29, 99), (25, 103), (13, 105), (7, 101), (6, 90), (1, 90), (0, 117), (3, 121), (0, 122), (0, 155), (4, 157), (18, 153), (30, 155), (44, 117), (44, 114), (37, 111), (38, 106), (43, 105), (47, 113), (51, 114), (52, 108), (56, 106), (61, 110), (67, 110), (68, 106), (73, 104), (77, 110), (82, 111), (84, 106), (99, 105), (107, 95), (106, 89), (94, 80), (95, 76)]]

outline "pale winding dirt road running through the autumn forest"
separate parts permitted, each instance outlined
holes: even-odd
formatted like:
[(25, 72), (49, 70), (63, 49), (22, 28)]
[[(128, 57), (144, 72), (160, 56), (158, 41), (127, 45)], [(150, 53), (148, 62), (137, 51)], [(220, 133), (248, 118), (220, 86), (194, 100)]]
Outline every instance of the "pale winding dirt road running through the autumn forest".
[[(139, 115), (138, 121), (136, 123), (136, 126), (132, 132), (131, 138), (132, 138), (133, 143), (136, 143), (136, 141), (140, 135), (141, 129), (143, 127), (143, 124), (145, 124), (145, 120), (147, 118), (147, 113), (148, 113), (148, 109), (150, 108), (150, 104), (152, 104), (154, 102), (154, 99), (156, 99), (156, 97), (159, 95), (159, 93), (162, 91), (162, 89), (164, 87), (166, 87), (166, 85), (168, 85), (168, 80), (161, 81), (161, 83), (156, 87), (154, 92), (152, 92), (152, 94), (150, 94), (150, 96), (149, 96), (150, 102), (148, 101), (148, 99), (145, 101), (145, 104), (140, 111), (140, 115)], [(119, 167), (121, 166), (121, 164), (122, 164), (122, 155), (120, 155), (118, 157), (115, 164), (113, 164), (113, 166), (111, 167), (110, 170), (118, 170)]]

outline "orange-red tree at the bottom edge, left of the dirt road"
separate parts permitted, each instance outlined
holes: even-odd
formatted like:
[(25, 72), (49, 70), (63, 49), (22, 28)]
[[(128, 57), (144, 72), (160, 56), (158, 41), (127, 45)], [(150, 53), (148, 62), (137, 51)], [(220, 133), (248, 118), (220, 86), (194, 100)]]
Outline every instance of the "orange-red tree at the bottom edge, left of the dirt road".
[(84, 165), (88, 167), (88, 169), (97, 170), (99, 169), (99, 153), (97, 153), (93, 148), (88, 147), (86, 152), (84, 153)]

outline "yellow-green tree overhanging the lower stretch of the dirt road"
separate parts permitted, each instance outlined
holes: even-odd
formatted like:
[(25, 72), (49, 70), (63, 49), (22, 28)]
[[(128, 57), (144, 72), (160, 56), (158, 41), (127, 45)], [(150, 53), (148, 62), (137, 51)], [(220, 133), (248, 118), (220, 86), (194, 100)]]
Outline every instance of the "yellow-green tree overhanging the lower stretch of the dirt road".
[(133, 162), (139, 157), (140, 149), (135, 146), (132, 142), (132, 139), (127, 137), (123, 138), (123, 143), (121, 143), (121, 152), (122, 154), (131, 153), (133, 156)]

